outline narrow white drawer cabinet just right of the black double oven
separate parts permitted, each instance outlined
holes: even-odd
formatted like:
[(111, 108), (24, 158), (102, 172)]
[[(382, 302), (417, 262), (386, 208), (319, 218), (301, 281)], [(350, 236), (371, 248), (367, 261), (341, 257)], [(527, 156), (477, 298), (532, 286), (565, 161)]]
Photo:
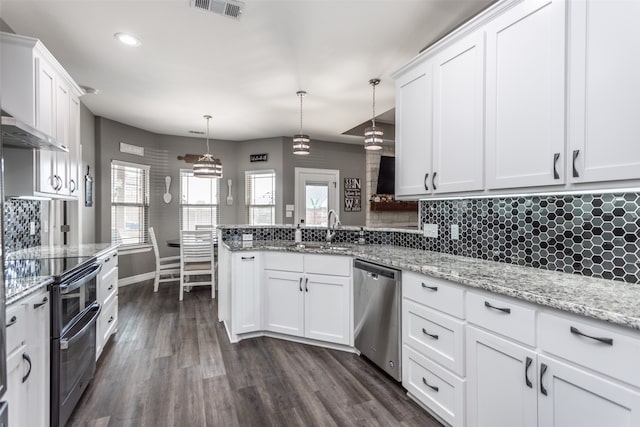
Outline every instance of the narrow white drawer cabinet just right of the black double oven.
[(97, 283), (98, 303), (102, 312), (97, 322), (96, 360), (118, 329), (118, 250), (100, 255), (98, 263), (102, 266)]

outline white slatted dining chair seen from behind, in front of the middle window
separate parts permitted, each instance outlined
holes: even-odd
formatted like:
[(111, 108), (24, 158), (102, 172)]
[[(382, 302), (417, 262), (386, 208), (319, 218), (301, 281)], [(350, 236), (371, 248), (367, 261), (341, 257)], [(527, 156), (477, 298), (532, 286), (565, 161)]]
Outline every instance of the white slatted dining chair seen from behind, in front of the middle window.
[(215, 298), (215, 262), (211, 230), (180, 231), (180, 301), (185, 287), (211, 286)]

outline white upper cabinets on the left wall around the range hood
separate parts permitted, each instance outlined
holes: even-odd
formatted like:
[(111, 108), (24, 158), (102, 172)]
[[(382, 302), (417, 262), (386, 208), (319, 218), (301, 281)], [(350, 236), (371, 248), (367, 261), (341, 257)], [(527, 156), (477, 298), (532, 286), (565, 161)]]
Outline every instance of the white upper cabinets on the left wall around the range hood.
[[(0, 47), (3, 111), (53, 137), (68, 150), (34, 150), (32, 182), (21, 184), (17, 191), (21, 194), (8, 195), (35, 193), (75, 200), (80, 193), (79, 97), (83, 91), (39, 40), (2, 33)], [(5, 163), (10, 169), (10, 156), (8, 160)], [(26, 185), (30, 188), (24, 188)]]

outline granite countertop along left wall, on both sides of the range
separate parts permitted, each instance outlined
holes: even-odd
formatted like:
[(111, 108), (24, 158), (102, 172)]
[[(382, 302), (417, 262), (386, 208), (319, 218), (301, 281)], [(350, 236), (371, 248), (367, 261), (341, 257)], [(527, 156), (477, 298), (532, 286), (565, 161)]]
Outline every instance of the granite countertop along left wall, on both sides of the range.
[[(35, 246), (6, 253), (6, 261), (21, 259), (65, 258), (100, 256), (118, 245), (88, 243), (74, 246)], [(6, 270), (5, 270), (6, 271)], [(11, 305), (53, 282), (51, 276), (29, 276), (7, 279), (5, 276), (5, 304)]]

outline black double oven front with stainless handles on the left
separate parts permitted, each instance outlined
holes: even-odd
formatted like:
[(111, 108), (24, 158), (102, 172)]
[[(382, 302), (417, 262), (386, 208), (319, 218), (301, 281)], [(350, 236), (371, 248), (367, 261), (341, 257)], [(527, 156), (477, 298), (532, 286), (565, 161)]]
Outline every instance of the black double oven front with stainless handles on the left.
[(95, 258), (56, 277), (51, 294), (51, 425), (64, 426), (96, 370)]

